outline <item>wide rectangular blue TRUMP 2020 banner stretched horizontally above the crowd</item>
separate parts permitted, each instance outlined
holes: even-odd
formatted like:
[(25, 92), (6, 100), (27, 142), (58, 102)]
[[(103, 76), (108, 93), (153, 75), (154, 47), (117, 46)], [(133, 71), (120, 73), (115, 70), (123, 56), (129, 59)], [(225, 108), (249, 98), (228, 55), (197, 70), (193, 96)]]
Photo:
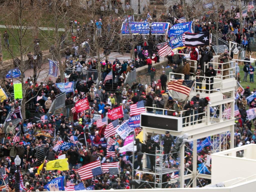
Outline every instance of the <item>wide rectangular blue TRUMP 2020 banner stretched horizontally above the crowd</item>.
[(140, 34), (140, 35), (163, 35), (169, 28), (169, 23), (161, 23), (161, 22), (154, 22), (150, 24), (148, 22), (123, 22), (122, 24), (122, 34), (129, 35), (129, 34)]

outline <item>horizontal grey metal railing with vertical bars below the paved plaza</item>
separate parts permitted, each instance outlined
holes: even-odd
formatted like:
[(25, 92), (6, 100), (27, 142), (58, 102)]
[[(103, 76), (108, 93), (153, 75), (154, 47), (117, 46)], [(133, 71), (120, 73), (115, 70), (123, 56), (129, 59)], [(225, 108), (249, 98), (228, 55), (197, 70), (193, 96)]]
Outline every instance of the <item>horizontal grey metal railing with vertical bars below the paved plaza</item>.
[(92, 79), (92, 81), (97, 81), (98, 79), (98, 70), (83, 70), (83, 69), (66, 69), (65, 73), (69, 75), (71, 72), (75, 73), (75, 71), (78, 72), (78, 79), (81, 79), (83, 81), (88, 81), (89, 78)]

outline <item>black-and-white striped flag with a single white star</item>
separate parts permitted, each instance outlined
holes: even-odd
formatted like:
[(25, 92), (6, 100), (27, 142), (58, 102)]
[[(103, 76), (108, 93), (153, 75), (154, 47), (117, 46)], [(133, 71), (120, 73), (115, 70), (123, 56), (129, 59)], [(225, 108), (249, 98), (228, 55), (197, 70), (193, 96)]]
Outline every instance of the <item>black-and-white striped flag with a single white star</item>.
[(182, 42), (186, 47), (196, 47), (209, 45), (210, 33), (184, 33), (182, 35)]

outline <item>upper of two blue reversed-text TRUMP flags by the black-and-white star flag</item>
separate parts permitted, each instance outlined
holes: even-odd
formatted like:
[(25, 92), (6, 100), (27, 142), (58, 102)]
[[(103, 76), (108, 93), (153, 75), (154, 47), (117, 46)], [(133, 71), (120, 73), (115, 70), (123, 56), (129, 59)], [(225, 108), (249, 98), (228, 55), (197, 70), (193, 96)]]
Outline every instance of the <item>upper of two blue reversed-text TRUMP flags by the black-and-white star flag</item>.
[(192, 23), (193, 23), (193, 21), (190, 21), (187, 23), (178, 23), (178, 24), (173, 25), (168, 31), (169, 37), (181, 35), (186, 32), (193, 33)]

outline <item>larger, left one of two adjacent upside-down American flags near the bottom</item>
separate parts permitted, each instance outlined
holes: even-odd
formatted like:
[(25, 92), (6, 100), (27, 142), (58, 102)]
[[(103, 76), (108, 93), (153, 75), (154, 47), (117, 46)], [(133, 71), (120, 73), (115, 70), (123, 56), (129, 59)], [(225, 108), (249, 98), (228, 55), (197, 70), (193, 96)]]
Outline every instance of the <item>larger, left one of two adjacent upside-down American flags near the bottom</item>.
[(103, 174), (101, 165), (100, 165), (100, 160), (94, 161), (92, 163), (88, 163), (80, 167), (79, 169), (77, 169), (77, 172), (81, 180), (90, 179), (97, 175)]

